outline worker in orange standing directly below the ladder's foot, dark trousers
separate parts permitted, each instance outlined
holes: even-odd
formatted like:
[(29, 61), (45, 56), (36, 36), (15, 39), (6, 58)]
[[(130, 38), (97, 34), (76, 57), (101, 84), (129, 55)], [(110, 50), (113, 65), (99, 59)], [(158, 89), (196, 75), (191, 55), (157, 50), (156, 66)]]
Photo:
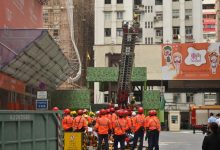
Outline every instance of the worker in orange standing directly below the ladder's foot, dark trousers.
[(124, 118), (124, 111), (119, 110), (118, 118), (113, 121), (112, 128), (114, 130), (114, 150), (118, 149), (118, 142), (120, 142), (121, 150), (125, 149), (125, 131), (128, 130), (128, 124)]

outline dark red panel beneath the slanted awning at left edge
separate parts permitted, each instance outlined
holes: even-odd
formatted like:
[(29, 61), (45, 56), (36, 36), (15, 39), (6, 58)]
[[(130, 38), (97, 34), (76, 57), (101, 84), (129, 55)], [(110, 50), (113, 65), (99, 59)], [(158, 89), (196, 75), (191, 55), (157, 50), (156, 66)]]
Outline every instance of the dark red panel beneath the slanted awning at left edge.
[(25, 93), (25, 84), (22, 81), (3, 73), (0, 73), (0, 88), (22, 94)]

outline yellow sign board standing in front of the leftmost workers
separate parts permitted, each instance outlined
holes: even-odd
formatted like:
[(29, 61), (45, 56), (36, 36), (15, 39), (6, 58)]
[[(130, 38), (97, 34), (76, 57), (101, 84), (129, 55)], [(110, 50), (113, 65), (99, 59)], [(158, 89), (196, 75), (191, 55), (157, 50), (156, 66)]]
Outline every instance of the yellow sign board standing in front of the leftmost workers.
[(64, 132), (64, 150), (82, 150), (81, 132)]

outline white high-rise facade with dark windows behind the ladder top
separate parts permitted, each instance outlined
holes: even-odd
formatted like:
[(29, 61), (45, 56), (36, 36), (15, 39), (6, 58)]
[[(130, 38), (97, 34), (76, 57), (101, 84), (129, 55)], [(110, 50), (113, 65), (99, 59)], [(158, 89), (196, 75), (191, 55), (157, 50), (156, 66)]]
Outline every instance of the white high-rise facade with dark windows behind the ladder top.
[(95, 44), (120, 44), (121, 22), (141, 23), (139, 44), (203, 41), (202, 0), (97, 0)]

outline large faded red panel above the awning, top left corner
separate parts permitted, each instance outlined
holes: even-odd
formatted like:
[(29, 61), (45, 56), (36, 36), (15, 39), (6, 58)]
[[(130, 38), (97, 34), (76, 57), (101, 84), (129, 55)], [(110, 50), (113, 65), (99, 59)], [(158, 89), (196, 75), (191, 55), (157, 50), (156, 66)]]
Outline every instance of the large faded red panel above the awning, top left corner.
[(42, 5), (38, 0), (0, 1), (0, 28), (42, 27)]

